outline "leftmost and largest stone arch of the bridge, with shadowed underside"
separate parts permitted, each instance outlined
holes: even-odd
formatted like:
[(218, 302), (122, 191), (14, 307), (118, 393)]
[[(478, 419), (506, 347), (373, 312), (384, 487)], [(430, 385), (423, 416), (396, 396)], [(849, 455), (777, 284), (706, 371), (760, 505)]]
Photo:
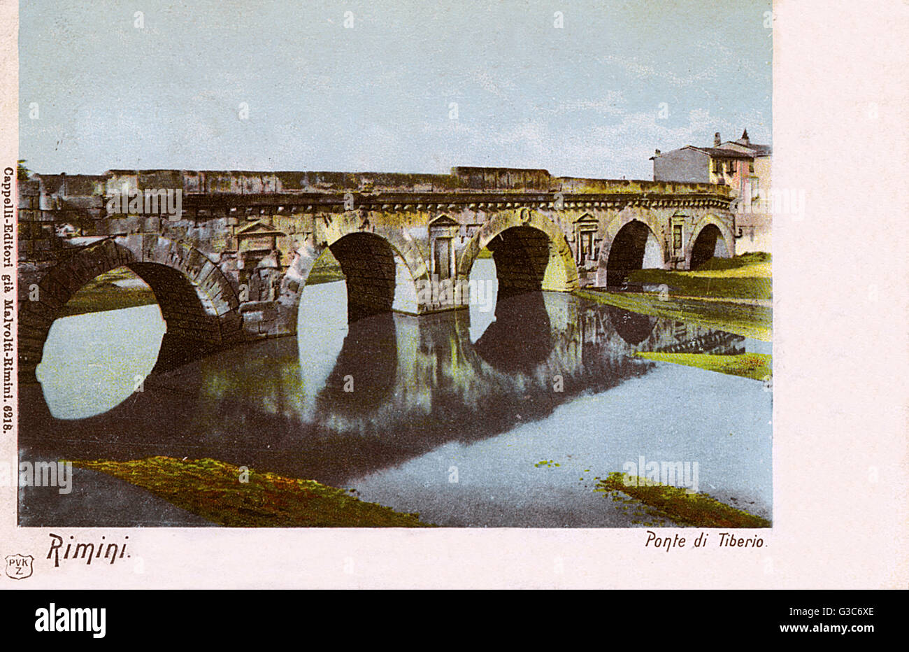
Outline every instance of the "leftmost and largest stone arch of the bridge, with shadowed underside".
[(37, 283), (37, 299), (20, 300), (21, 379), (35, 379), (47, 334), (66, 302), (96, 276), (122, 266), (151, 287), (165, 320), (156, 368), (245, 339), (235, 289), (215, 263), (164, 236), (118, 236), (79, 249), (51, 267)]

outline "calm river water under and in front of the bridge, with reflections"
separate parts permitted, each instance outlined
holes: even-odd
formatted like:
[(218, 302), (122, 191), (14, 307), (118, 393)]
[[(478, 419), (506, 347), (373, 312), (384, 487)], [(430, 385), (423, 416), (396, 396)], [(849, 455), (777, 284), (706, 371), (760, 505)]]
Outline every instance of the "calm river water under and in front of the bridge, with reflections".
[[(492, 261), (474, 275), (494, 277)], [(634, 357), (753, 342), (559, 293), (489, 307), (348, 325), (344, 282), (309, 286), (296, 337), (153, 376), (157, 306), (58, 319), (41, 386), (22, 391), (20, 456), (214, 457), (455, 527), (634, 527), (594, 478), (643, 457), (696, 463), (695, 488), (770, 517), (771, 393)], [(37, 496), (20, 494), (21, 523), (74, 522), (72, 502)], [(113, 498), (76, 521), (125, 523), (115, 510), (146, 502), (132, 488)]]

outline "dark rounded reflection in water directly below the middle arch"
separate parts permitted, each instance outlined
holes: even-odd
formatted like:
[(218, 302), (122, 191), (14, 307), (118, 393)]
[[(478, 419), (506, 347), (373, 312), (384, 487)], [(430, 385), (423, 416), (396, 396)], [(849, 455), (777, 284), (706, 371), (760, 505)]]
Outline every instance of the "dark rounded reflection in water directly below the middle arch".
[(533, 371), (553, 350), (543, 294), (528, 292), (500, 299), (495, 321), (476, 341), (474, 350), (499, 371)]

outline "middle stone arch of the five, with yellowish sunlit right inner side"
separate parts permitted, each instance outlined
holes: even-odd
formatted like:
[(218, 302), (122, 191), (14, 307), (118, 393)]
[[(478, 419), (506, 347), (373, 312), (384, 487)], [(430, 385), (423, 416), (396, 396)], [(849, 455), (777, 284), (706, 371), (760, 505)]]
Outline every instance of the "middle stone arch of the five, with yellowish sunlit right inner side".
[[(501, 239), (499, 246), (496, 238)], [(530, 208), (503, 211), (487, 220), (464, 246), (457, 266), (459, 279), (470, 276), (485, 246), (493, 250), (499, 296), (533, 290), (571, 292), (578, 287), (574, 254), (564, 232)]]

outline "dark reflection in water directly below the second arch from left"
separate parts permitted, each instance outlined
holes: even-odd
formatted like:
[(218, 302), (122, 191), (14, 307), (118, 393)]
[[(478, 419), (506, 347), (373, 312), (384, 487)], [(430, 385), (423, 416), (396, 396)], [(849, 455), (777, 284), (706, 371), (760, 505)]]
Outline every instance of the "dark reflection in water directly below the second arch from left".
[(369, 413), (395, 389), (398, 351), (392, 313), (352, 322), (335, 368), (316, 398), (320, 411)]

